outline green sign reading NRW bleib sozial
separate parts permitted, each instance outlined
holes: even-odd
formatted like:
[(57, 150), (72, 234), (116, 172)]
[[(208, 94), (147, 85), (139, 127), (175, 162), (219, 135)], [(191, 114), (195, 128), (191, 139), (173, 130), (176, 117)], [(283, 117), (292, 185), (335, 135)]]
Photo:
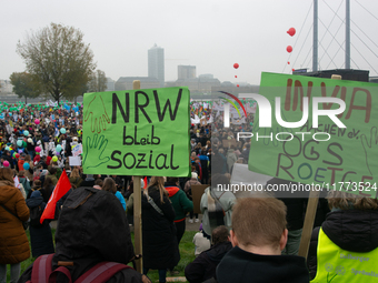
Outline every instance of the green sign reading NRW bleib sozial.
[(188, 176), (189, 99), (188, 88), (86, 93), (83, 172)]

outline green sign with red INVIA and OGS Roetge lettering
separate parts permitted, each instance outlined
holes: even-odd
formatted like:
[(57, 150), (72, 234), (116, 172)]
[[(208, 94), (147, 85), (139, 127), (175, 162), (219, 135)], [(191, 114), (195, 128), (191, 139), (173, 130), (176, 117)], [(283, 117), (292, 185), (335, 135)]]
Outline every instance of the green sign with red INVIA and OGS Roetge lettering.
[(270, 105), (258, 101), (249, 170), (316, 189), (377, 198), (377, 87), (262, 73), (259, 94)]

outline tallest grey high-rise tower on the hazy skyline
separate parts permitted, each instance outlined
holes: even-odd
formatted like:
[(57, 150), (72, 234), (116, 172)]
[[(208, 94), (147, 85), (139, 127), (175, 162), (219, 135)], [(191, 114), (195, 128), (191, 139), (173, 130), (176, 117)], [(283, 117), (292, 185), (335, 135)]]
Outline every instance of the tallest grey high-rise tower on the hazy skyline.
[(148, 77), (157, 78), (165, 87), (165, 50), (156, 43), (148, 50)]

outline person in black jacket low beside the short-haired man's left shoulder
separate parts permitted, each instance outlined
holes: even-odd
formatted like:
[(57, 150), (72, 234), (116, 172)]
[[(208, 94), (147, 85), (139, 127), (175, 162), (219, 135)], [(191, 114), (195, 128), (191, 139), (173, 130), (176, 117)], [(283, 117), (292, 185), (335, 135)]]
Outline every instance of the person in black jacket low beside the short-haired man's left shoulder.
[(190, 283), (201, 283), (216, 277), (216, 269), (225, 254), (232, 249), (229, 231), (226, 226), (218, 226), (211, 234), (212, 246), (200, 253), (192, 263), (185, 269), (185, 276)]

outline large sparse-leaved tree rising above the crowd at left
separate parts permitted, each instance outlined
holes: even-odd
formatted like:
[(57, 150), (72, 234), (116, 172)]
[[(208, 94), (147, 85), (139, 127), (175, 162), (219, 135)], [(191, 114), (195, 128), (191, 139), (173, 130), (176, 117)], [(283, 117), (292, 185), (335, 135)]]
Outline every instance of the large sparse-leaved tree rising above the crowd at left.
[(51, 23), (19, 41), (17, 52), (41, 89), (58, 102), (61, 98), (81, 95), (81, 90), (96, 69), (93, 53), (73, 27)]

